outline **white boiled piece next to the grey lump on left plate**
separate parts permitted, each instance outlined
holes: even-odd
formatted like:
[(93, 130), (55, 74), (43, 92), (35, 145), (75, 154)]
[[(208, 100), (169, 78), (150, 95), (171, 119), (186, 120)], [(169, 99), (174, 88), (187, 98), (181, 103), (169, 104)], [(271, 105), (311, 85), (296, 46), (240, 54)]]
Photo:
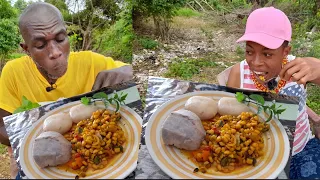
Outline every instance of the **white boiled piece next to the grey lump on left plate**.
[(47, 117), (43, 122), (43, 131), (55, 131), (64, 134), (71, 129), (72, 119), (69, 113), (58, 113)]

